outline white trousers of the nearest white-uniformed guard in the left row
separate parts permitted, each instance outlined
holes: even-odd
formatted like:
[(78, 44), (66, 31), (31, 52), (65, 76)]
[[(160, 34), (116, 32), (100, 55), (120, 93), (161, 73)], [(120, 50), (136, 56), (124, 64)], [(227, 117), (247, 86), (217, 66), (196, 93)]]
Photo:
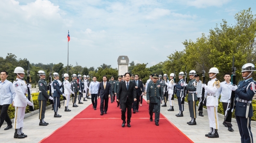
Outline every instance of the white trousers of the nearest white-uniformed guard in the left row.
[(15, 107), (14, 129), (20, 129), (23, 127), (25, 111), (26, 107)]

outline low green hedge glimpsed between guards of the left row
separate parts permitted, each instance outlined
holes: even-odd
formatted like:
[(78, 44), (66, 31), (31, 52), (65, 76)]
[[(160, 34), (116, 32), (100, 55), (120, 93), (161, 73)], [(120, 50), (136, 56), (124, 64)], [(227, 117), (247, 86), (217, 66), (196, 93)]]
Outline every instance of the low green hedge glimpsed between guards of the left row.
[[(39, 93), (32, 93), (31, 95), (32, 95), (33, 103), (34, 103), (34, 110), (37, 110), (37, 109), (39, 109), (39, 103), (38, 103)], [(60, 100), (63, 100), (63, 96), (61, 96)], [(46, 106), (48, 106), (48, 105), (50, 105), (49, 101), (47, 101)], [(12, 107), (12, 104), (10, 104), (7, 112), (11, 119), (15, 117), (15, 107)], [(29, 106), (26, 106), (25, 113), (29, 113)]]

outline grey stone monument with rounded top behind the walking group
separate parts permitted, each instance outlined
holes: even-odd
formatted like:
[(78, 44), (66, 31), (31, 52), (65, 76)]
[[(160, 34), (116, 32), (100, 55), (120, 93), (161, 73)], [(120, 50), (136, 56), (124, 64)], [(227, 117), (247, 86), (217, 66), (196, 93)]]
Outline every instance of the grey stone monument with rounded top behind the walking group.
[(128, 72), (129, 58), (128, 56), (119, 56), (117, 59), (118, 75), (124, 75)]

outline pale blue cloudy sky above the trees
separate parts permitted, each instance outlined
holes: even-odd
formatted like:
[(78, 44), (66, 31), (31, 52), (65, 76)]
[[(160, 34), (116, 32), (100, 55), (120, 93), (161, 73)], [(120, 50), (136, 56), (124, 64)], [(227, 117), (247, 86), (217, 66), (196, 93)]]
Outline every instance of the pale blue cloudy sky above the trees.
[(69, 30), (73, 66), (115, 68), (125, 55), (151, 67), (249, 7), (256, 14), (255, 0), (0, 0), (0, 56), (67, 64)]

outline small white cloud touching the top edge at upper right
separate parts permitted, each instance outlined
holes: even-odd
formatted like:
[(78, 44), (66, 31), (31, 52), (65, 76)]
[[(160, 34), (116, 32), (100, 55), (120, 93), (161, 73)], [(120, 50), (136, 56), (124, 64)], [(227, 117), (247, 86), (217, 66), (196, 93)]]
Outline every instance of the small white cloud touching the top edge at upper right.
[(224, 4), (227, 4), (231, 0), (188, 0), (187, 5), (188, 6), (195, 6), (197, 8), (207, 8), (209, 6), (223, 6)]

